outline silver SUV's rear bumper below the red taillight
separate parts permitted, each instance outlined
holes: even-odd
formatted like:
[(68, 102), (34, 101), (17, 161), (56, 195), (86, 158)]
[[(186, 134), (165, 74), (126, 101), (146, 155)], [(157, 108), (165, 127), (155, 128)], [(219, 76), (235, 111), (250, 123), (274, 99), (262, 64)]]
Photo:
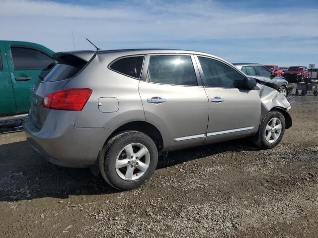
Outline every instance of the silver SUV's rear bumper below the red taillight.
[(64, 111), (70, 113), (69, 120), (57, 121), (60, 113), (61, 111), (51, 110), (41, 129), (33, 124), (30, 117), (26, 118), (24, 131), (28, 143), (53, 164), (74, 168), (94, 165), (99, 151), (113, 130), (76, 128), (74, 127), (76, 119), (73, 120), (72, 117), (75, 112)]

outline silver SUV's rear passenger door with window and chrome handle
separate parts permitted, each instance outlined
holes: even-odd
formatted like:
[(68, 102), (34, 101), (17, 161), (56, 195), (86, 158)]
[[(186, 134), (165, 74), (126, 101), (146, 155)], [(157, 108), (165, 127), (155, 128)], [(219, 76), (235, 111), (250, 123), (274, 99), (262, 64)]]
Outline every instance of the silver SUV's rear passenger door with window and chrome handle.
[(205, 141), (208, 98), (191, 55), (148, 55), (139, 84), (146, 121), (172, 150)]

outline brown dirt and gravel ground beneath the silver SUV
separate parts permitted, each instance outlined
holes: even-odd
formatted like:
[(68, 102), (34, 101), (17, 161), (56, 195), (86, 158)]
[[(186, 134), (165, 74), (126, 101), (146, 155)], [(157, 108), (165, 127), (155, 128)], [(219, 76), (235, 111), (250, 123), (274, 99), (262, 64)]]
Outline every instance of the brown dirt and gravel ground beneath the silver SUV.
[(125, 192), (46, 162), (19, 124), (2, 124), (0, 237), (318, 237), (318, 97), (289, 100), (294, 124), (276, 148), (171, 152)]

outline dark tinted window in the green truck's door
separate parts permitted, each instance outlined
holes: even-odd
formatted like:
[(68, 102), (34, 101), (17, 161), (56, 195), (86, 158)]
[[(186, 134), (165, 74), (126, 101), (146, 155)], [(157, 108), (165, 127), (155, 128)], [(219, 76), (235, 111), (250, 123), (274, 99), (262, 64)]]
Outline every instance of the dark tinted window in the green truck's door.
[(41, 51), (11, 47), (11, 56), (14, 69), (43, 69), (53, 63), (53, 59)]

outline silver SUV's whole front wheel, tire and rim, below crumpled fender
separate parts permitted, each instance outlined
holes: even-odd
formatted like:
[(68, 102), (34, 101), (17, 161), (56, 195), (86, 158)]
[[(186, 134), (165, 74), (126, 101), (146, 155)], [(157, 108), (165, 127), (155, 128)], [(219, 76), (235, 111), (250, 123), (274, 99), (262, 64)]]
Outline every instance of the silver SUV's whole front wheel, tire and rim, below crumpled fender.
[(274, 148), (283, 138), (285, 125), (282, 113), (278, 111), (268, 112), (259, 125), (258, 131), (252, 137), (252, 141), (263, 149)]

